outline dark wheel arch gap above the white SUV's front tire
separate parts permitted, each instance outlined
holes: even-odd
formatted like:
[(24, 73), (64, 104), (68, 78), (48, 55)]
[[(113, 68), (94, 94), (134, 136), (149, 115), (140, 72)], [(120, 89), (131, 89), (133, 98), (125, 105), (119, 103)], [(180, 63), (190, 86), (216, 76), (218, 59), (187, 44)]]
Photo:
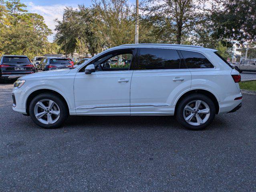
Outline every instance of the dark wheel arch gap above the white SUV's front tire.
[(69, 109), (69, 103), (67, 102), (67, 99), (60, 93), (60, 92), (57, 92), (56, 90), (52, 90), (52, 89), (49, 89), (49, 88), (42, 88), (42, 89), (37, 89), (37, 90), (34, 90), (32, 91), (26, 98), (26, 113), (29, 115), (29, 105), (32, 101), (32, 99), (37, 96), (38, 94), (41, 94), (41, 93), (51, 93), (51, 94), (55, 94), (57, 95), (58, 97), (60, 97), (63, 101), (65, 101), (65, 104), (66, 104), (66, 107), (67, 109)]

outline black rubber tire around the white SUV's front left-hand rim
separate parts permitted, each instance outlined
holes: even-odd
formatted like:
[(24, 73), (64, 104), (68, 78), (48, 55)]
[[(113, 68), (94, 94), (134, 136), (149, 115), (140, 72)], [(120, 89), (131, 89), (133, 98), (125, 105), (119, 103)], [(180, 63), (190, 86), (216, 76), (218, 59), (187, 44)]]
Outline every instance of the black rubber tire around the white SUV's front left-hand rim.
[[(52, 124), (44, 124), (44, 123), (40, 122), (34, 114), (34, 107), (36, 106), (36, 103), (43, 99), (46, 99), (46, 100), (49, 99), (49, 100), (54, 101), (60, 109), (60, 116), (59, 116), (58, 120)], [(42, 94), (35, 96), (33, 98), (33, 100), (30, 102), (29, 114), (30, 114), (30, 117), (32, 118), (32, 120), (35, 122), (35, 124), (37, 124), (38, 126), (40, 126), (42, 128), (50, 129), (50, 128), (58, 128), (58, 127), (62, 126), (62, 124), (64, 124), (64, 122), (67, 120), (67, 118), (69, 116), (69, 109), (67, 108), (65, 101), (62, 100), (61, 98), (59, 98), (58, 96), (56, 96), (55, 94), (42, 93)]]

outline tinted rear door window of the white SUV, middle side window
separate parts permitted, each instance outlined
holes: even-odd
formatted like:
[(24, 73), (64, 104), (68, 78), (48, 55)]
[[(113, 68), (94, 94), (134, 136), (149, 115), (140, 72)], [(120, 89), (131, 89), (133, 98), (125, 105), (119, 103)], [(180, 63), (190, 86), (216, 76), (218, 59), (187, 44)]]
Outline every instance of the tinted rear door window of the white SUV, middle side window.
[(180, 69), (181, 59), (177, 50), (141, 48), (137, 70)]

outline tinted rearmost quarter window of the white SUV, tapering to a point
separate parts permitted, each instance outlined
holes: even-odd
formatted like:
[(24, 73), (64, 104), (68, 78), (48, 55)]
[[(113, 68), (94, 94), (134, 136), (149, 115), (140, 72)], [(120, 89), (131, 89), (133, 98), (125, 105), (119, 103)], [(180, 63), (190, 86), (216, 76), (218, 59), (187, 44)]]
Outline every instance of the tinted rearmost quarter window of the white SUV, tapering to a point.
[(214, 68), (212, 63), (201, 53), (181, 50), (181, 54), (189, 69)]

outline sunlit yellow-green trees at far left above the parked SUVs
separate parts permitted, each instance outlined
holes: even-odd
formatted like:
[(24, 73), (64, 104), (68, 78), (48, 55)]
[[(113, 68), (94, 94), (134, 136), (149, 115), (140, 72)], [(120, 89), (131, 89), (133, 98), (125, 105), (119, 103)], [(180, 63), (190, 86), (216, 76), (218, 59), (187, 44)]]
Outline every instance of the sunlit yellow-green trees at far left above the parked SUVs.
[(33, 58), (59, 52), (58, 45), (47, 40), (52, 32), (44, 23), (44, 18), (39, 14), (27, 13), (25, 8), (20, 0), (0, 4), (0, 53)]

